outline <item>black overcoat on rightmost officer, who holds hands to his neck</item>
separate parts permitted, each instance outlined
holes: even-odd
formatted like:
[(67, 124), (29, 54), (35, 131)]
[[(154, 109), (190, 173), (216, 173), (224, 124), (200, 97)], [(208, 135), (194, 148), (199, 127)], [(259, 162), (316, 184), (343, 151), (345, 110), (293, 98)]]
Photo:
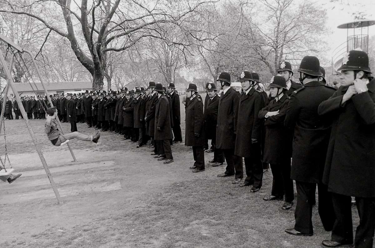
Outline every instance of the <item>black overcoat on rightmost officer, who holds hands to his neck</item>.
[(323, 174), (330, 192), (375, 197), (375, 80), (367, 87), (342, 105), (342, 86), (319, 105), (319, 114), (333, 118)]

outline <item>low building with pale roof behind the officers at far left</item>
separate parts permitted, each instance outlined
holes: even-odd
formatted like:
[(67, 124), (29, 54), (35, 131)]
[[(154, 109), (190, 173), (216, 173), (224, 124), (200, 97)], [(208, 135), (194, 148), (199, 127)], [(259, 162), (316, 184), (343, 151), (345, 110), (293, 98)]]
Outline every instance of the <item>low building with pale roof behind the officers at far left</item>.
[[(45, 96), (45, 92), (41, 83), (35, 83), (35, 85), (31, 83), (33, 88), (31, 88), (29, 83), (13, 83), (13, 85), (15, 86), (20, 96), (25, 96), (25, 95)], [(45, 83), (45, 86), (49, 95), (61, 94), (61, 93), (66, 94), (66, 92), (82, 91), (86, 89), (89, 91), (92, 91), (93, 89), (93, 84), (92, 82), (89, 82), (89, 81), (87, 82), (50, 82), (50, 83)], [(36, 92), (36, 94), (34, 93), (34, 91)], [(9, 88), (7, 96), (14, 97), (14, 93), (11, 88)]]

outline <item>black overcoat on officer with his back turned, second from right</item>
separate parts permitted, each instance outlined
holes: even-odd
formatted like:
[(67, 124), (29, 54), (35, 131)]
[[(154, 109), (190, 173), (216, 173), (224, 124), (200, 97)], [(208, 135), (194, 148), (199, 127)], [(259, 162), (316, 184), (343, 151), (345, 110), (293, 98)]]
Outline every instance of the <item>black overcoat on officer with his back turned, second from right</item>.
[(336, 90), (317, 81), (304, 84), (291, 94), (285, 126), (293, 129), (291, 178), (319, 183), (323, 175), (331, 121), (318, 115), (318, 106)]

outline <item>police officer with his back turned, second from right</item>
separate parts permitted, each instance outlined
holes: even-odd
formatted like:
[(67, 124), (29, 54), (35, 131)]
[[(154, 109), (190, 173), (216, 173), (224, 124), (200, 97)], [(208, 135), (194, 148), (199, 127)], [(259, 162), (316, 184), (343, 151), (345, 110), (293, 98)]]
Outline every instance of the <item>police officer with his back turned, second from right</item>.
[(291, 178), (296, 180), (297, 206), (294, 228), (285, 231), (293, 235), (313, 235), (312, 206), (318, 184), (318, 212), (325, 230), (332, 230), (335, 221), (332, 199), (322, 182), (324, 162), (330, 135), (330, 119), (318, 115), (318, 106), (335, 92), (319, 82), (322, 76), (319, 60), (305, 56), (300, 64), (300, 82), (304, 87), (291, 94), (285, 116), (285, 126), (294, 130)]

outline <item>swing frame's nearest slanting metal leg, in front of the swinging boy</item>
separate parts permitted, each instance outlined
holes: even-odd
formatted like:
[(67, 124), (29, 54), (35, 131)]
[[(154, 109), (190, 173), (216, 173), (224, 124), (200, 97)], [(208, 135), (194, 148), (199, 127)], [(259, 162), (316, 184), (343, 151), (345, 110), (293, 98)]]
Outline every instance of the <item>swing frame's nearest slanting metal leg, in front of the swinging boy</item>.
[[(27, 126), (27, 129), (28, 129), (28, 132), (30, 133), (31, 139), (33, 140), (33, 143), (34, 143), (36, 151), (37, 151), (37, 153), (39, 155), (40, 161), (43, 164), (44, 170), (45, 170), (45, 172), (47, 174), (49, 182), (51, 183), (52, 189), (53, 189), (53, 191), (55, 193), (55, 196), (57, 198), (57, 203), (60, 204), (60, 203), (62, 203), (61, 197), (60, 197), (60, 193), (58, 192), (56, 184), (55, 184), (55, 182), (54, 182), (54, 180), (52, 178), (51, 172), (49, 171), (49, 168), (48, 168), (47, 162), (46, 162), (46, 160), (45, 160), (45, 158), (43, 156), (42, 150), (40, 149), (40, 146), (37, 143), (34, 130), (31, 127), (30, 122), (29, 122), (29, 120), (27, 118), (27, 114), (26, 114), (26, 111), (25, 111), (25, 109), (24, 109), (24, 107), (22, 105), (20, 95), (18, 94), (17, 89), (15, 88), (15, 86), (12, 84), (12, 82), (13, 82), (12, 76), (10, 75), (9, 68), (6, 66), (6, 62), (5, 62), (5, 58), (3, 56), (3, 53), (1, 53), (1, 52), (0, 52), (0, 64), (3, 65), (3, 70), (4, 70), (5, 75), (7, 77), (7, 87), (12, 88), (13, 94), (14, 94), (14, 96), (16, 98), (17, 103), (18, 103), (18, 107), (20, 108), (21, 114), (22, 114), (22, 116), (23, 116), (23, 118), (24, 118), (24, 120), (26, 122), (26, 126)], [(6, 95), (4, 97), (4, 101), (6, 101)]]

